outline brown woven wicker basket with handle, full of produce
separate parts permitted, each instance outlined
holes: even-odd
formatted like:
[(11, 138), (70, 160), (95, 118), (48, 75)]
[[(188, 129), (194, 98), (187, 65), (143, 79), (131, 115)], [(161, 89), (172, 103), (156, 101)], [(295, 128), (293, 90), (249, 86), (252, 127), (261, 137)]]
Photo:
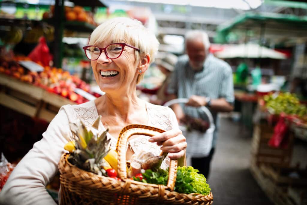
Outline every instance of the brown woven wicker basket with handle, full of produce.
[(133, 135), (154, 136), (161, 132), (165, 131), (135, 124), (122, 129), (116, 147), (118, 173), (122, 181), (79, 169), (68, 162), (69, 153), (63, 154), (59, 162), (60, 204), (212, 204), (213, 195), (211, 192), (204, 196), (173, 191), (177, 174), (177, 160), (170, 160), (167, 186), (127, 179), (126, 143), (129, 137)]

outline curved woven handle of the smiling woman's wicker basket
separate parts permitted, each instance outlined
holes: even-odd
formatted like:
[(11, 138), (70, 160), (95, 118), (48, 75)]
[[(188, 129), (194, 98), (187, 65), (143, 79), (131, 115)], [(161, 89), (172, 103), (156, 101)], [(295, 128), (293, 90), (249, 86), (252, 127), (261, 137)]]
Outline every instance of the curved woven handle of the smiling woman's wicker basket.
[[(118, 174), (120, 179), (127, 178), (126, 169), (126, 144), (128, 139), (133, 135), (145, 135), (145, 136), (155, 136), (159, 133), (165, 132), (162, 129), (141, 125), (141, 124), (130, 124), (122, 129), (119, 133), (119, 138), (117, 140), (116, 150), (118, 153)], [(160, 156), (167, 155), (168, 153), (161, 152)], [(174, 190), (175, 182), (177, 177), (177, 160), (170, 160), (169, 163), (169, 178), (167, 181), (167, 187), (171, 191)]]

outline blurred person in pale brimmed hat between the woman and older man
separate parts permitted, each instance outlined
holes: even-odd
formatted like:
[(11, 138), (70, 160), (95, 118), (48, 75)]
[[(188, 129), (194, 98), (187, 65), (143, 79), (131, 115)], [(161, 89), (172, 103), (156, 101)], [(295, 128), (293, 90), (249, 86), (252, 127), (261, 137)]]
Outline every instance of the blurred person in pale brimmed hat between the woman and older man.
[(170, 74), (173, 72), (177, 62), (177, 56), (172, 53), (161, 53), (160, 56), (155, 60), (155, 63), (165, 75), (165, 80), (162, 82), (157, 94), (150, 99), (151, 103), (158, 105), (162, 105), (167, 101), (167, 85), (170, 81)]

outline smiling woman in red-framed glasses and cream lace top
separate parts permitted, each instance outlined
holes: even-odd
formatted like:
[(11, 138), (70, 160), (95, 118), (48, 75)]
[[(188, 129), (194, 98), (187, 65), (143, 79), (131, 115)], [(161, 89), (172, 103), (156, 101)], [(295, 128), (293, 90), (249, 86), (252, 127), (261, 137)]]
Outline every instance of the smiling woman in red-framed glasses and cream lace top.
[[(50, 122), (43, 138), (17, 164), (0, 192), (0, 204), (49, 205), (56, 204), (45, 186), (58, 171), (64, 145), (73, 139), (69, 123), (82, 120), (90, 127), (99, 121), (99, 132), (109, 128), (107, 137), (115, 149), (122, 128), (129, 124), (144, 124), (165, 130), (159, 135), (132, 136), (126, 156), (151, 152), (158, 156), (168, 152), (161, 168), (169, 159), (180, 159), (184, 165), (185, 137), (178, 127), (174, 112), (164, 106), (150, 104), (138, 98), (136, 85), (158, 49), (157, 38), (141, 22), (130, 18), (108, 19), (91, 34), (84, 52), (91, 60), (95, 80), (106, 94), (84, 104), (62, 106)], [(180, 165), (180, 163), (179, 163)]]

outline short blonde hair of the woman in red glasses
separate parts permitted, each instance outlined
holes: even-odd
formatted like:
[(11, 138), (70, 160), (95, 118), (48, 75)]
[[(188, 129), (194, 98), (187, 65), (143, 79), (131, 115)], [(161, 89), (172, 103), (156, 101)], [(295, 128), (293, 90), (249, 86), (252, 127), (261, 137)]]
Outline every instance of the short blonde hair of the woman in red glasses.
[[(148, 53), (152, 63), (159, 46), (155, 35), (140, 21), (126, 17), (111, 18), (100, 24), (91, 34), (88, 44), (97, 45), (110, 39), (114, 43), (124, 42), (139, 48), (139, 52), (135, 50), (136, 62)], [(137, 83), (143, 79), (143, 75), (138, 76)]]

